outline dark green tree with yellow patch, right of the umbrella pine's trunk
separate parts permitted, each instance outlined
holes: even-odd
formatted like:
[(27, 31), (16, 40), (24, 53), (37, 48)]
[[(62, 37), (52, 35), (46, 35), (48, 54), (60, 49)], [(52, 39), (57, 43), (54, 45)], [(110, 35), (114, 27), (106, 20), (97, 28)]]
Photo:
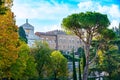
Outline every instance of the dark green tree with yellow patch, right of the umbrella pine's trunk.
[[(112, 75), (118, 66), (116, 66), (116, 63), (118, 64), (117, 60), (119, 60), (119, 56), (116, 54), (117, 47), (113, 45), (113, 40), (116, 38), (116, 35), (112, 30), (104, 29), (102, 31), (101, 37), (99, 38), (99, 41), (96, 40), (92, 43), (92, 46), (98, 47), (98, 45), (100, 45), (99, 51), (97, 52), (97, 58), (94, 62), (94, 67), (92, 68), (92, 72), (97, 71), (98, 73), (101, 73), (104, 71), (108, 73), (108, 80), (113, 80), (114, 78)], [(96, 47), (93, 48), (96, 50)], [(96, 51), (94, 51), (94, 53), (95, 52)], [(115, 57), (116, 55), (118, 57)]]

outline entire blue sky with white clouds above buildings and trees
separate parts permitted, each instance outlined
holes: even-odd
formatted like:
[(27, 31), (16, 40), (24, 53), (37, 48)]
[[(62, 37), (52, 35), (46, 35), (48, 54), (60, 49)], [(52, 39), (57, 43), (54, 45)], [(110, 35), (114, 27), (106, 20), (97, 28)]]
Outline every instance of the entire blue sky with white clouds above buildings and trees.
[(14, 0), (12, 11), (18, 26), (28, 19), (35, 32), (61, 30), (63, 18), (86, 11), (107, 14), (110, 28), (120, 23), (120, 0)]

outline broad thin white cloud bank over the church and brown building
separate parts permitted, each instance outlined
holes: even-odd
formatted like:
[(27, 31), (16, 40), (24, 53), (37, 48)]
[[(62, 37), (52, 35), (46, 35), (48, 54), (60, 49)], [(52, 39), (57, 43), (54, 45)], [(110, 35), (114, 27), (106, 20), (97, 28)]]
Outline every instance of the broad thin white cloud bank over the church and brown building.
[[(14, 0), (12, 8), (16, 15), (17, 25), (22, 25), (20, 20), (26, 18), (36, 20), (31, 24), (35, 24), (35, 31), (48, 31), (54, 29), (61, 29), (61, 21), (64, 17), (72, 12), (68, 5), (59, 4), (54, 0), (50, 2), (44, 0), (38, 1), (21, 1)], [(52, 21), (52, 22), (51, 22)], [(50, 23), (51, 22), (51, 23)]]

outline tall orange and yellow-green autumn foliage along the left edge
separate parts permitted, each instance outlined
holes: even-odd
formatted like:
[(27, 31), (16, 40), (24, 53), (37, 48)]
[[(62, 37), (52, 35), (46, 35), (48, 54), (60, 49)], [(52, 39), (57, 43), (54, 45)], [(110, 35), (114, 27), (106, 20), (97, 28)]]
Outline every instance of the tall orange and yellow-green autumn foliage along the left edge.
[(27, 44), (19, 40), (11, 6), (12, 0), (0, 0), (0, 80), (27, 80), (35, 75), (36, 64)]

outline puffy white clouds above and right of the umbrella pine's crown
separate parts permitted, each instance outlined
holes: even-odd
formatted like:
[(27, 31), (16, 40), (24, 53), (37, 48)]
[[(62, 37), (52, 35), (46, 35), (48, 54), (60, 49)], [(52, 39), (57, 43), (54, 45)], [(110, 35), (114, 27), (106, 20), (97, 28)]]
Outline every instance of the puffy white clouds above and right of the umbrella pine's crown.
[(103, 14), (107, 14), (111, 22), (110, 27), (118, 26), (120, 22), (120, 9), (118, 5), (111, 4), (108, 6), (108, 5), (101, 5), (99, 2), (87, 1), (87, 2), (80, 2), (78, 4), (78, 7), (81, 12), (96, 11)]

